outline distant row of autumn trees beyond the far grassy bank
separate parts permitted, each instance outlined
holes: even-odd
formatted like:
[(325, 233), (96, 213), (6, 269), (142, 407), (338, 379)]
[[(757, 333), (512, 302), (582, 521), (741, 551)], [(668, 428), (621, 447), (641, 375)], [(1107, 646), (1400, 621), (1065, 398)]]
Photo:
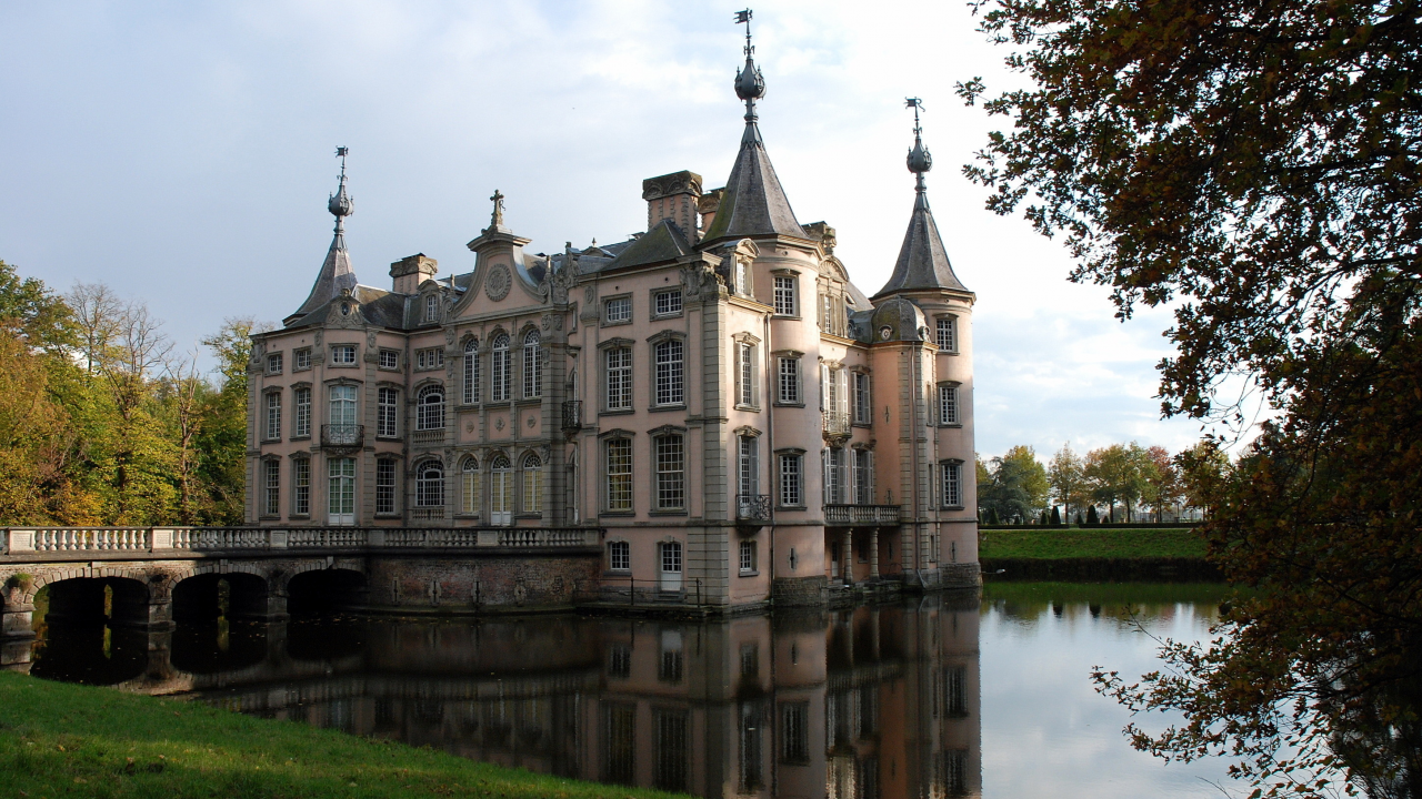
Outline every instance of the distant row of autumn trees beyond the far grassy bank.
[(1210, 513), (1233, 466), (1213, 442), (1170, 454), (1165, 446), (1112, 444), (1078, 455), (1064, 445), (1045, 465), (1018, 445), (977, 459), (984, 523), (1175, 522)]

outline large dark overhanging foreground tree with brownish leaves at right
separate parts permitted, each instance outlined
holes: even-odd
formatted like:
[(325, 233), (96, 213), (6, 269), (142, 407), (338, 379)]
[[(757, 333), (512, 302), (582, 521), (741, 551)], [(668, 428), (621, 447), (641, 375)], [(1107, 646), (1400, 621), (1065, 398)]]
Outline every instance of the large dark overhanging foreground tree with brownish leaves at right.
[[(1260, 792), (1418, 795), (1422, 765), (1398, 735), (1422, 715), (1411, 690), (1422, 651), (1422, 7), (978, 10), (1031, 84), (987, 102), (1014, 124), (968, 168), (991, 186), (990, 208), (1025, 202), (1039, 232), (1065, 237), (1072, 279), (1111, 286), (1122, 318), (1140, 303), (1173, 307), (1166, 415), (1243, 424), (1251, 409), (1239, 397), (1273, 411), (1223, 475), (1204, 527), (1216, 563), (1258, 590), (1239, 597), (1216, 641), (1166, 650), (1169, 668), (1139, 685), (1102, 685), (1132, 707), (1185, 712), (1183, 726), (1138, 731), (1138, 746), (1233, 752)], [(984, 87), (960, 91), (975, 102)], [(1220, 391), (1239, 378), (1253, 391)]]

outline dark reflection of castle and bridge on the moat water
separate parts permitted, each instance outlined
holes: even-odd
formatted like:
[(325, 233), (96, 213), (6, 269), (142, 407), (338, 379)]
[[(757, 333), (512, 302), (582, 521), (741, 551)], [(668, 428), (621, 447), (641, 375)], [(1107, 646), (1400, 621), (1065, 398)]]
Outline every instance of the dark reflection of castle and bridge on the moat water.
[(710, 623), (51, 628), (37, 677), (700, 796), (978, 796), (978, 600)]

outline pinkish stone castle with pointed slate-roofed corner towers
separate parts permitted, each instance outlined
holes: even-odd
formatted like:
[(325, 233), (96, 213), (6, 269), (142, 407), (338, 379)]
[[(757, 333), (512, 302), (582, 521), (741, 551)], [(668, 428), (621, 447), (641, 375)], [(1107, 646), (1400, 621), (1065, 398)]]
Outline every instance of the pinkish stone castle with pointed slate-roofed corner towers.
[(867, 296), (791, 209), (752, 54), (725, 186), (643, 181), (647, 232), (613, 245), (533, 254), (495, 192), (472, 272), (414, 254), (360, 284), (338, 151), (316, 284), (252, 337), (247, 522), (597, 540), (602, 590), (727, 610), (977, 586), (974, 294), (916, 101), (913, 210)]

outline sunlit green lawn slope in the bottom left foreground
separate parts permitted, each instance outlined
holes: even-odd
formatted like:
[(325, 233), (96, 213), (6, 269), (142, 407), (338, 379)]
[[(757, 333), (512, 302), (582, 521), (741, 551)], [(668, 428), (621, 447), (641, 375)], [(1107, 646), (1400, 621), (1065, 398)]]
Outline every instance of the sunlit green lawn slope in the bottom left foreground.
[(0, 672), (0, 796), (671, 796)]

